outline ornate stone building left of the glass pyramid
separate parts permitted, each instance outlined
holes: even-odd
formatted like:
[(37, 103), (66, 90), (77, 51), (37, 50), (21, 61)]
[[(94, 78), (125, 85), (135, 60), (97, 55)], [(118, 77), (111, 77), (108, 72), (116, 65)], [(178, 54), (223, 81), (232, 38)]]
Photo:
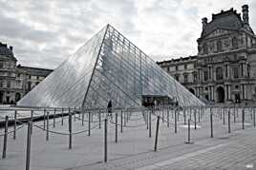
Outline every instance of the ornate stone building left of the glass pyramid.
[(17, 66), (13, 47), (0, 43), (0, 104), (15, 104), (53, 70)]

